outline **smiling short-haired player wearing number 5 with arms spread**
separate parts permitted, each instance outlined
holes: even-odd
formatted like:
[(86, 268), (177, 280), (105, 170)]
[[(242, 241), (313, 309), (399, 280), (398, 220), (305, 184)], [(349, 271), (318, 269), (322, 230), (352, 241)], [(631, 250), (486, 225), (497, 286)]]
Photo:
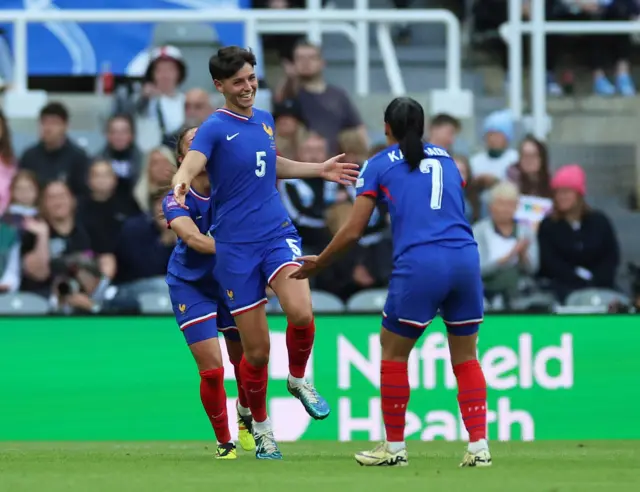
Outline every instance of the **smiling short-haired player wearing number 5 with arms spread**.
[(264, 305), (271, 286), (287, 316), (289, 392), (314, 419), (329, 415), (329, 405), (306, 381), (315, 325), (308, 283), (288, 278), (300, 266), (302, 245), (276, 189), (276, 178), (321, 177), (343, 184), (355, 181), (356, 164), (295, 162), (276, 156), (271, 114), (253, 108), (258, 81), (253, 53), (237, 46), (211, 57), (209, 72), (224, 98), (202, 126), (174, 178), (176, 200), (184, 206), (193, 179), (206, 169), (215, 202), (215, 277), (225, 291), (242, 336), (243, 386), (253, 415), (258, 459), (282, 459), (267, 418), (269, 330)]

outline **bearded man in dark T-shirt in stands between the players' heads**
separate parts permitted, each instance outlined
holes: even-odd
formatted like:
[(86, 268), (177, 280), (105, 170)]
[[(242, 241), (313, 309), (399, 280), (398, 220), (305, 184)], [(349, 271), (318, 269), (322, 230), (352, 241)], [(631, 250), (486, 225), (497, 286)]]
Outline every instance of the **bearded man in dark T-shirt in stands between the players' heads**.
[(338, 150), (340, 132), (357, 128), (368, 145), (367, 130), (347, 93), (328, 84), (323, 75), (324, 60), (317, 46), (303, 41), (293, 52), (293, 74), (277, 91), (276, 100), (297, 99), (309, 130), (329, 142), (329, 152)]

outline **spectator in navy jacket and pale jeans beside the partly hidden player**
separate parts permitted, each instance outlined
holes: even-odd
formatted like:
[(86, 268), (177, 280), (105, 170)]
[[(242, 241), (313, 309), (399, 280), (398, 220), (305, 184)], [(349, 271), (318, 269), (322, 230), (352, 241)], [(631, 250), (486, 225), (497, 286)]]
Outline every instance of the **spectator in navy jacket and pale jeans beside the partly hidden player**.
[(136, 299), (145, 292), (166, 292), (164, 277), (176, 235), (167, 227), (162, 213), (165, 194), (154, 194), (151, 211), (127, 219), (122, 226), (116, 247), (118, 299)]

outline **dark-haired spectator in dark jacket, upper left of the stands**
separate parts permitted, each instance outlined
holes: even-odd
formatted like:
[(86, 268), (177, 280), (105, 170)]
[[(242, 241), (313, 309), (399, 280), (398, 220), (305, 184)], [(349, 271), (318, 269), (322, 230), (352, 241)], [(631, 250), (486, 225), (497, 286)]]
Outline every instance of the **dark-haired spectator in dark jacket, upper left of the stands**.
[(67, 183), (75, 196), (85, 196), (89, 158), (67, 136), (69, 112), (57, 102), (40, 111), (40, 141), (20, 158), (20, 168), (32, 171), (44, 188), (52, 181)]

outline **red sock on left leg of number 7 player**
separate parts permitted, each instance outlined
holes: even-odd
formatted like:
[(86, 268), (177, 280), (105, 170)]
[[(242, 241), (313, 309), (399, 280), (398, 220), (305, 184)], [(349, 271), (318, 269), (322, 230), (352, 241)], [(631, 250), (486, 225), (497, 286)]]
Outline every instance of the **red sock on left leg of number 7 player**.
[(404, 441), (409, 393), (407, 363), (383, 360), (380, 366), (380, 394), (382, 419), (389, 442)]

